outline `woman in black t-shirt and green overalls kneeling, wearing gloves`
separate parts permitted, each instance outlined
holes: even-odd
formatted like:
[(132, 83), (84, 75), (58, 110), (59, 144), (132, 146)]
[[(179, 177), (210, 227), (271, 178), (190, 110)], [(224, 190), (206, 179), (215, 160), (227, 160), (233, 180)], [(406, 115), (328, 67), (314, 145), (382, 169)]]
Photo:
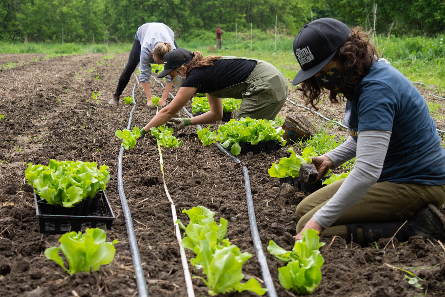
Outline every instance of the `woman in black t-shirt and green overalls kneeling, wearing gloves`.
[(287, 82), (275, 66), (261, 60), (242, 57), (202, 57), (199, 52), (175, 49), (164, 56), (164, 71), (158, 77), (172, 77), (179, 88), (169, 105), (141, 129), (144, 136), (151, 127), (169, 121), (192, 96), (207, 93), (210, 110), (194, 118), (174, 118), (174, 130), (184, 126), (209, 124), (223, 118), (221, 98), (243, 99), (236, 114), (239, 118), (273, 120), (287, 97)]

